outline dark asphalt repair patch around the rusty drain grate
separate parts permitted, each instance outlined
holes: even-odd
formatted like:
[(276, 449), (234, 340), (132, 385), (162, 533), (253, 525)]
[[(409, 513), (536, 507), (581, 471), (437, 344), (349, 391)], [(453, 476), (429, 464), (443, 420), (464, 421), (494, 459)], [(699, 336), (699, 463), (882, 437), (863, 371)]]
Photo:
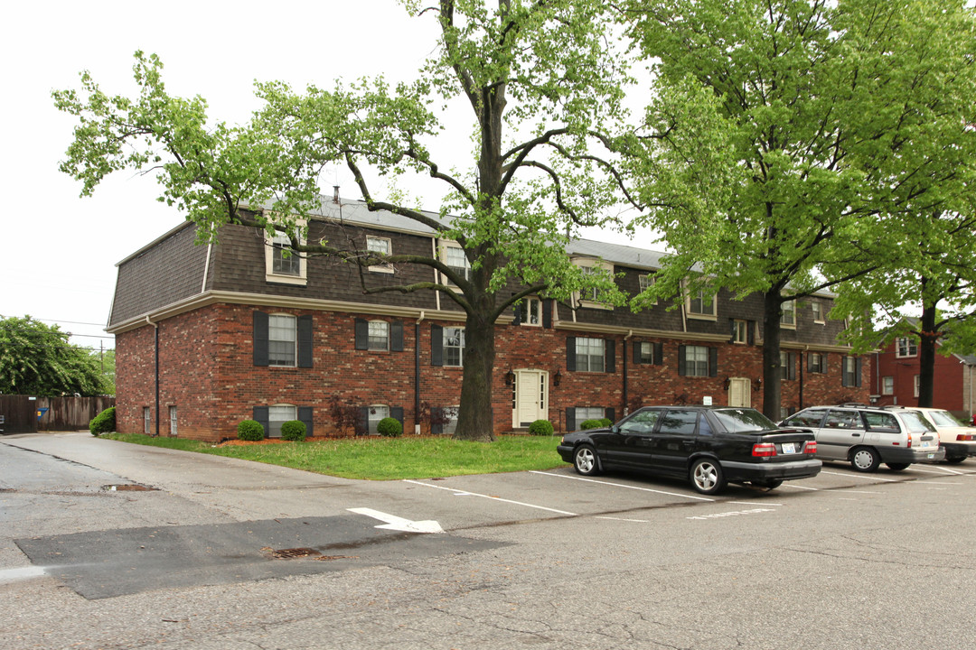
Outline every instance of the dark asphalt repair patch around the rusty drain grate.
[(89, 600), (395, 566), (508, 546), (378, 529), (375, 520), (363, 516), (120, 528), (15, 542), (46, 575)]

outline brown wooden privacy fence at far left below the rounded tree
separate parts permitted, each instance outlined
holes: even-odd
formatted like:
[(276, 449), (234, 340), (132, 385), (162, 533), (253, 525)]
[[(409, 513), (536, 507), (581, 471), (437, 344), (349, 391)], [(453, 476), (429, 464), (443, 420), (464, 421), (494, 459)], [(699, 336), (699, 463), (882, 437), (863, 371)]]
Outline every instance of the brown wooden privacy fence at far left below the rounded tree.
[(0, 395), (0, 434), (88, 429), (93, 417), (114, 405), (115, 398), (107, 396), (33, 398)]

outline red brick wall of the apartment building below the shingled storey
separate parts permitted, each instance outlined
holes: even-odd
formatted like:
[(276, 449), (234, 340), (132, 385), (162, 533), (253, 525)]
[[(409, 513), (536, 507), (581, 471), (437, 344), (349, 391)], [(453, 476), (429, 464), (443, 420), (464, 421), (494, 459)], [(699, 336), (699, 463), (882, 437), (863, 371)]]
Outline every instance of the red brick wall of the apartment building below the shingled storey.
[[(256, 405), (288, 403), (311, 406), (316, 436), (335, 432), (330, 415), (330, 398), (355, 405), (374, 403), (402, 407), (404, 431), (417, 424), (415, 413), (416, 324), (403, 320), (403, 352), (355, 350), (355, 315), (309, 312), (295, 309), (261, 308), (268, 314), (312, 316), (312, 368), (262, 367), (253, 362), (254, 307), (215, 305), (159, 324), (160, 416), (159, 432), (169, 435), (168, 406), (178, 409), (178, 435), (199, 440), (222, 440), (236, 436), (237, 424), (250, 419)], [(387, 322), (398, 319), (363, 317)], [(450, 325), (438, 323), (438, 325)], [(461, 325), (461, 324), (456, 324)], [(615, 340), (616, 372), (570, 372), (566, 369), (566, 338), (587, 335), (527, 325), (499, 325), (496, 333), (496, 364), (493, 376), (495, 433), (511, 430), (511, 387), (505, 383), (509, 369), (539, 369), (549, 372), (549, 420), (560, 430), (565, 410), (574, 406), (613, 407), (617, 417), (625, 411), (624, 355), (628, 356), (628, 406), (666, 404), (683, 399), (701, 403), (706, 396), (716, 404), (727, 403), (725, 377), (761, 377), (762, 351), (758, 346), (728, 343), (706, 344), (718, 348), (715, 377), (681, 377), (677, 371), (679, 341), (666, 339), (664, 363), (632, 363), (632, 344), (625, 350), (623, 336)], [(595, 338), (607, 338), (590, 334)], [(651, 340), (651, 339), (640, 339)], [(653, 342), (653, 341), (652, 341)], [(691, 342), (689, 342), (691, 343)], [(461, 396), (462, 368), (430, 364), (430, 322), (420, 325), (421, 401), (431, 406), (453, 406)], [(142, 432), (142, 407), (149, 406), (155, 431), (153, 395), (153, 328), (143, 326), (122, 332), (117, 345), (117, 418), (119, 431)], [(865, 381), (861, 389), (840, 386), (842, 356), (829, 355), (828, 374), (803, 372), (803, 404), (867, 401), (869, 363), (865, 358)], [(805, 360), (804, 362), (805, 363)], [(560, 374), (560, 385), (552, 378)], [(798, 408), (799, 374), (783, 382), (783, 404)], [(752, 405), (761, 409), (762, 391), (752, 392)], [(428, 431), (427, 424), (423, 431)]]

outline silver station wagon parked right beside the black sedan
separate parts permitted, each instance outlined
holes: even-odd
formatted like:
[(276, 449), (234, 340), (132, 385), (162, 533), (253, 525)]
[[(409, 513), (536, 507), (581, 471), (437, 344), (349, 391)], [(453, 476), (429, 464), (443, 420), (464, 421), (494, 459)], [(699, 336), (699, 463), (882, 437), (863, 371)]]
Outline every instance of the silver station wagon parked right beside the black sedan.
[(817, 458), (847, 461), (858, 472), (881, 463), (898, 472), (912, 463), (934, 463), (946, 456), (935, 427), (919, 413), (898, 408), (813, 406), (781, 423), (809, 429), (817, 438)]

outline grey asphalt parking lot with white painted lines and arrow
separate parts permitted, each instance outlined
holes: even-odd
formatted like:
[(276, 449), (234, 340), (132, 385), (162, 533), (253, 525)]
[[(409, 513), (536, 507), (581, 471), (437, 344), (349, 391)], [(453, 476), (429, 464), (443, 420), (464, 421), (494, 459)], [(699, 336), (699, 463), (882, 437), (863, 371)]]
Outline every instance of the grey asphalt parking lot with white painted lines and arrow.
[[(973, 461), (827, 463), (717, 497), (569, 466), (353, 481), (88, 435), (4, 439), (0, 465), (0, 606), (16, 612), (4, 647), (970, 639)], [(314, 554), (280, 553), (302, 549)], [(928, 603), (925, 625), (893, 601)]]

